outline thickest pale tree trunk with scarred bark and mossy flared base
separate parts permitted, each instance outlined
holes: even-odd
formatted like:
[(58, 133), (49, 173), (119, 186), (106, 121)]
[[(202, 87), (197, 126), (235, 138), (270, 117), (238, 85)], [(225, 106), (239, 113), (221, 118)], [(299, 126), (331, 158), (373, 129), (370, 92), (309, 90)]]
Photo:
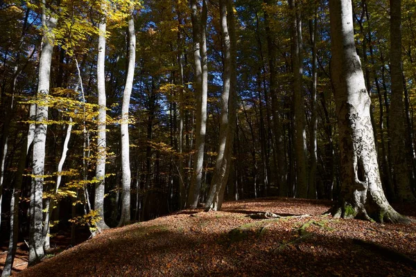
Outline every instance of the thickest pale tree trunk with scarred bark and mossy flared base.
[(385, 199), (379, 174), (370, 96), (356, 53), (351, 0), (330, 0), (331, 77), (340, 141), (341, 195), (334, 217), (406, 222)]

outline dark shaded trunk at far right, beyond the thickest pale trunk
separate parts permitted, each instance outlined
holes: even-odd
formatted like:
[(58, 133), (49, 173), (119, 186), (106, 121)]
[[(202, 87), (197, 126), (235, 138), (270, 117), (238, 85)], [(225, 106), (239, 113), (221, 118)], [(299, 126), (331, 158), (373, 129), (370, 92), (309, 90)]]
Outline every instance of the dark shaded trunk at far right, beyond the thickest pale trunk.
[(390, 98), (390, 145), (393, 180), (396, 197), (401, 202), (413, 202), (410, 189), (409, 168), (406, 159), (406, 118), (403, 101), (403, 77), (401, 64), (401, 0), (390, 0), (390, 75), (392, 96)]

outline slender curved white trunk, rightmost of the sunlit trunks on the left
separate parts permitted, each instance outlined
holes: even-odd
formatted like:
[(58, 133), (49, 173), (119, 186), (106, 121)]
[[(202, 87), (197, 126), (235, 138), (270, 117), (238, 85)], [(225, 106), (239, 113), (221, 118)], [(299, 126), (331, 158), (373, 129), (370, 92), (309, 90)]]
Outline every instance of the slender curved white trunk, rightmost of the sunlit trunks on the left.
[(128, 19), (128, 69), (127, 79), (123, 92), (123, 105), (121, 106), (121, 218), (119, 226), (126, 225), (130, 222), (130, 140), (128, 133), (128, 110), (130, 107), (130, 96), (133, 88), (133, 79), (135, 78), (136, 63), (136, 34), (135, 19), (133, 12)]

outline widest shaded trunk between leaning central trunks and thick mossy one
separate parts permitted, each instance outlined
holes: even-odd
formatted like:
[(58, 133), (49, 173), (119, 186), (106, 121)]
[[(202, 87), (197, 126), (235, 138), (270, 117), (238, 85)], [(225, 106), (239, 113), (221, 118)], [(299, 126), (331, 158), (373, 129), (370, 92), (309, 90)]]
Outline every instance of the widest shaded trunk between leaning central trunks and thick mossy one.
[(308, 197), (308, 168), (306, 164), (306, 129), (304, 93), (302, 90), (302, 21), (296, 0), (288, 0), (292, 12), (291, 53), (293, 69), (293, 122), (295, 123), (296, 196)]

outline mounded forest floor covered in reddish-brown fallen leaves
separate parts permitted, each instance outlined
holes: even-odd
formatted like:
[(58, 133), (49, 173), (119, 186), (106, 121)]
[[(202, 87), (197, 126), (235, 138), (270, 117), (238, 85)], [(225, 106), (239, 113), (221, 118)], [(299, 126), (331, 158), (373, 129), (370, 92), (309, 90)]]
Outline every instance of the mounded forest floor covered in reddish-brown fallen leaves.
[[(273, 197), (180, 211), (105, 231), (18, 276), (416, 276), (415, 222), (333, 219), (322, 215), (330, 205)], [(395, 208), (416, 220), (414, 205)], [(266, 211), (281, 218), (248, 217)]]

